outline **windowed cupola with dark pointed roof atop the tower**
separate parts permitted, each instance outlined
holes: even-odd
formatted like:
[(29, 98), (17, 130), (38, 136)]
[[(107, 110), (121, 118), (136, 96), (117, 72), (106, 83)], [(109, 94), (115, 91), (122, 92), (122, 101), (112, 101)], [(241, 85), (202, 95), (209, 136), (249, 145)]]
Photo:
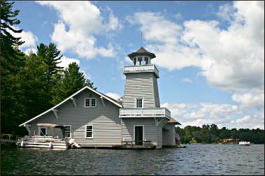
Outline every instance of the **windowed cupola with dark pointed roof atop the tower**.
[(150, 65), (151, 59), (155, 58), (155, 54), (148, 52), (145, 48), (141, 47), (136, 52), (132, 52), (128, 57), (133, 61), (134, 66)]

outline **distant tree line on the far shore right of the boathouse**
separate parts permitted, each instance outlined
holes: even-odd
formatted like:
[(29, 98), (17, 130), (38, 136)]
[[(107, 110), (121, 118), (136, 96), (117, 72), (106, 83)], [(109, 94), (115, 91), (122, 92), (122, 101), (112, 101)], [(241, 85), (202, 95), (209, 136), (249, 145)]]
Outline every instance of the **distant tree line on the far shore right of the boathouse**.
[(199, 126), (185, 126), (184, 129), (176, 127), (176, 132), (180, 135), (182, 143), (189, 143), (194, 138), (201, 143), (217, 143), (222, 139), (233, 138), (243, 141), (264, 144), (263, 129), (218, 129), (216, 124)]

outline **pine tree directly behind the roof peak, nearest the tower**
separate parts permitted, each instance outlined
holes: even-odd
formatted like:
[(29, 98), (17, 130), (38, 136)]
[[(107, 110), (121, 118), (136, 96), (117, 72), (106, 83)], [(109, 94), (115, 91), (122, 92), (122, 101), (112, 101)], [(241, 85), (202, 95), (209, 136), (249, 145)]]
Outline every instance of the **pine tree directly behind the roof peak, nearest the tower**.
[(80, 71), (80, 68), (76, 62), (69, 64), (68, 68), (64, 70), (62, 80), (54, 89), (54, 96), (52, 97), (52, 104), (57, 104), (63, 101), (65, 98), (71, 96), (79, 89), (82, 89), (86, 85), (93, 87), (93, 82), (86, 80), (84, 73)]

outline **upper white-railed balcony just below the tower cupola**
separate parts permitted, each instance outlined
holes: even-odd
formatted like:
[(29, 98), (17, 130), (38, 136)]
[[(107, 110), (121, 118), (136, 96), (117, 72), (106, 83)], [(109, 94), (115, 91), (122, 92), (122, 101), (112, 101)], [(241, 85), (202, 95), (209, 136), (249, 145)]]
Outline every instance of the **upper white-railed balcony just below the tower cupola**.
[(159, 78), (159, 71), (155, 64), (152, 65), (141, 65), (141, 66), (124, 66), (123, 73), (146, 73), (154, 72), (157, 78)]

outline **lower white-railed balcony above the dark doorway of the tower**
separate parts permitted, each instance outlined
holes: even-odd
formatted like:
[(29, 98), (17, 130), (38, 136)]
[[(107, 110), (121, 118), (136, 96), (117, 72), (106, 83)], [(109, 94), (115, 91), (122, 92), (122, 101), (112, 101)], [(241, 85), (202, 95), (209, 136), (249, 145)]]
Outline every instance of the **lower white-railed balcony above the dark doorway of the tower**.
[(166, 108), (120, 108), (120, 117), (166, 117), (171, 112)]

